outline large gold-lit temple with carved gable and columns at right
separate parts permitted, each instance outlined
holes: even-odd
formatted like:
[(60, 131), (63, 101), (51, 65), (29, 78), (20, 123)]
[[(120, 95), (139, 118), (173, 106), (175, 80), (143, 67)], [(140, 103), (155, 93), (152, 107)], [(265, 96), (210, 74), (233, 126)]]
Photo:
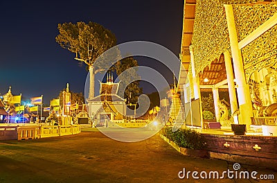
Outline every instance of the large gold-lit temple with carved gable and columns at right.
[(215, 121), (222, 120), (225, 107), (219, 92), (227, 91), (231, 123), (246, 124), (247, 130), (271, 123), (265, 116), (277, 113), (276, 34), (275, 1), (184, 1), (179, 89), (186, 103), (198, 105), (191, 115), (199, 116), (200, 127), (207, 91), (213, 93)]

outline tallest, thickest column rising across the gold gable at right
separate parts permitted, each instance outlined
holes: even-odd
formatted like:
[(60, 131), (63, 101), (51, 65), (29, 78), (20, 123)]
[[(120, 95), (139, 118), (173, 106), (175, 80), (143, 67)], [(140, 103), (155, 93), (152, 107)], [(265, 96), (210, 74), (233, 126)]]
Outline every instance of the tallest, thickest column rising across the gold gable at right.
[(229, 4), (224, 4), (224, 8), (229, 30), (235, 79), (238, 85), (238, 103), (240, 105), (239, 121), (240, 123), (247, 124), (247, 129), (249, 129), (251, 125), (251, 117), (253, 116), (252, 103), (250, 98), (249, 85), (247, 85), (247, 82), (245, 80), (242, 53), (238, 47), (238, 35), (235, 28), (233, 6)]

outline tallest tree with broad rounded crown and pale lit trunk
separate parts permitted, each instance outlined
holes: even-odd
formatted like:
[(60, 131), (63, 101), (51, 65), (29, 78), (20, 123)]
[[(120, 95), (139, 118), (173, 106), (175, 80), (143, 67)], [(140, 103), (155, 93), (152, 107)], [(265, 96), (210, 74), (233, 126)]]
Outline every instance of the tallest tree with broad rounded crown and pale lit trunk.
[(75, 53), (75, 60), (87, 64), (90, 71), (89, 98), (94, 96), (94, 76), (102, 70), (103, 65), (94, 64), (96, 59), (107, 49), (116, 45), (116, 36), (104, 26), (89, 21), (85, 24), (80, 21), (77, 24), (71, 22), (58, 24), (60, 34), (56, 42), (64, 49)]

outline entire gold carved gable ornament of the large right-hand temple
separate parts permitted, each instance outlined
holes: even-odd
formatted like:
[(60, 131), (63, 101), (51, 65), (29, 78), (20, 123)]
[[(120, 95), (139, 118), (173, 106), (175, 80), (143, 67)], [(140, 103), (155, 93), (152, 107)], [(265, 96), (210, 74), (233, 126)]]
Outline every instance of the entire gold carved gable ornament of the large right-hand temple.
[[(256, 0), (197, 0), (195, 24), (192, 38), (195, 56), (195, 71), (199, 73), (220, 58), (224, 51), (230, 51), (229, 33), (224, 3), (232, 3), (238, 41), (247, 37), (258, 26), (277, 12), (276, 3), (256, 3)], [(247, 5), (239, 5), (248, 3)], [(249, 4), (251, 3), (251, 4)], [(242, 49), (242, 58), (247, 80), (253, 71), (277, 62), (277, 25), (267, 30)]]

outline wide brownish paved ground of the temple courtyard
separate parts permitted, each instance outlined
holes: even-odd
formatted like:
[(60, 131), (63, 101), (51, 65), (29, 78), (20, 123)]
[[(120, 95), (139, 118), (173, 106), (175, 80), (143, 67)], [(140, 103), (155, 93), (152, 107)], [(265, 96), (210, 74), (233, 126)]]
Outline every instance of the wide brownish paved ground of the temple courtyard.
[[(275, 174), (241, 165), (241, 170)], [(233, 163), (181, 155), (158, 134), (126, 143), (96, 128), (80, 134), (25, 141), (0, 141), (0, 182), (261, 182), (260, 180), (180, 180), (179, 171), (233, 170)], [(267, 182), (274, 182), (268, 180)]]

